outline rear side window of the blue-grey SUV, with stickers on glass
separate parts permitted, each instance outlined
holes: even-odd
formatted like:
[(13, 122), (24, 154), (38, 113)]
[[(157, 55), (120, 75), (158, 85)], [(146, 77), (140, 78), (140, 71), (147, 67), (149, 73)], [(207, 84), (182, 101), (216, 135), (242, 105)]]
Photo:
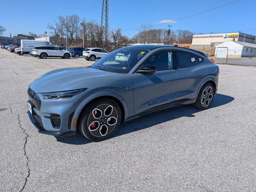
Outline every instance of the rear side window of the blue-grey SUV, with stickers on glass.
[(175, 60), (176, 68), (189, 67), (199, 62), (202, 62), (202, 58), (200, 58), (201, 59), (200, 61), (199, 57), (187, 52), (175, 51), (174, 53), (175, 53), (174, 60)]

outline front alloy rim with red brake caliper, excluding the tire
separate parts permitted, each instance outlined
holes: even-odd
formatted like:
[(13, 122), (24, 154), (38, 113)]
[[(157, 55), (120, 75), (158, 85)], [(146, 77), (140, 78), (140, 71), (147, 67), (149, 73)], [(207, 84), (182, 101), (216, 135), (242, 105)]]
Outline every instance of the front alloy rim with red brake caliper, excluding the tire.
[(90, 112), (87, 126), (92, 135), (103, 137), (114, 130), (117, 122), (118, 114), (115, 107), (110, 104), (101, 104)]

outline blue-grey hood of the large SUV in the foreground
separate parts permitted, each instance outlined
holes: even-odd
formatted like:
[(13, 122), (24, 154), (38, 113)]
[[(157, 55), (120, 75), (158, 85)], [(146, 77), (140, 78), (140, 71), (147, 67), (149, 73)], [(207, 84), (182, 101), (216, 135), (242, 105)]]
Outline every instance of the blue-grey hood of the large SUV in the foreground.
[[(120, 74), (90, 67), (64, 68), (43, 74), (29, 87), (36, 93), (57, 92), (80, 81), (117, 75)], [(86, 85), (81, 88), (86, 88)]]

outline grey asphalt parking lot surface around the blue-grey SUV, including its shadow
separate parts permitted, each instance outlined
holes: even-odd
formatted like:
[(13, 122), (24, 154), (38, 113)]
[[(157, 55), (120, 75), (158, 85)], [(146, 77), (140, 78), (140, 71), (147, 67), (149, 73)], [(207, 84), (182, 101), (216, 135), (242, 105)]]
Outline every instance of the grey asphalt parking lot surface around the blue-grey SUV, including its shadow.
[(1, 191), (256, 191), (256, 67), (219, 65), (208, 110), (148, 115), (102, 142), (39, 134), (27, 116), (29, 84), (92, 63), (0, 49)]

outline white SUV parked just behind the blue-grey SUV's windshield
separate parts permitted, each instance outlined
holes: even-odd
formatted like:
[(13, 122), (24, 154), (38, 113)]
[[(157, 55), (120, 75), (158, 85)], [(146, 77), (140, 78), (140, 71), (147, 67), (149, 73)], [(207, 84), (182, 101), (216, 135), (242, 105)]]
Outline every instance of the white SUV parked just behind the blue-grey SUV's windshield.
[(94, 61), (95, 59), (104, 57), (108, 53), (109, 52), (102, 48), (86, 48), (83, 51), (83, 57), (86, 58), (86, 60)]

